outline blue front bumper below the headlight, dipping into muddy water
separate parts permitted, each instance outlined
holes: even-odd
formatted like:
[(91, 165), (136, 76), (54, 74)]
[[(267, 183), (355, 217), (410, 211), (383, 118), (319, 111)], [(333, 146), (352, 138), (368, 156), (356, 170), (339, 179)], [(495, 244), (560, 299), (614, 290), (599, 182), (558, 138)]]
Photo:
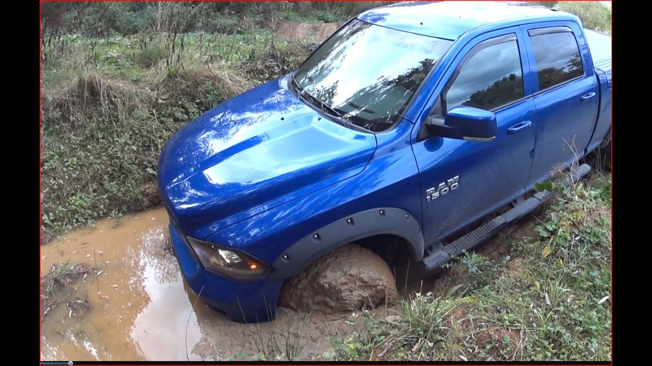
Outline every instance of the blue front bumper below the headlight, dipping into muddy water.
[(282, 280), (237, 281), (206, 270), (173, 223), (170, 223), (170, 240), (181, 274), (207, 305), (224, 311), (238, 322), (266, 322), (276, 317)]

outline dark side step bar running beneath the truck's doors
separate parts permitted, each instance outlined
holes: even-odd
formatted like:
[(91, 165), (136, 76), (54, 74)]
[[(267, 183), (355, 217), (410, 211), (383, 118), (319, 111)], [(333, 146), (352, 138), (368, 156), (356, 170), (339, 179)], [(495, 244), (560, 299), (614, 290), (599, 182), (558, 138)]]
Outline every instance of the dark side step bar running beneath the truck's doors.
[[(562, 180), (561, 184), (564, 186), (570, 186), (571, 184), (578, 182), (582, 176), (589, 174), (590, 171), (591, 167), (587, 164), (574, 167), (571, 169), (570, 176), (567, 176), (567, 178)], [(430, 255), (428, 255), (428, 257), (423, 259), (426, 271), (435, 270), (442, 264), (449, 262), (453, 257), (461, 255), (464, 251), (481, 244), (497, 234), (500, 229), (503, 229), (503, 227), (509, 223), (512, 223), (537, 209), (551, 197), (552, 192), (550, 191), (537, 192), (533, 197), (516, 204), (514, 208), (505, 212), (501, 216), (497, 216), (488, 223), (484, 223), (481, 227), (478, 227), (461, 238), (458, 238), (454, 242), (435, 249), (430, 253)]]

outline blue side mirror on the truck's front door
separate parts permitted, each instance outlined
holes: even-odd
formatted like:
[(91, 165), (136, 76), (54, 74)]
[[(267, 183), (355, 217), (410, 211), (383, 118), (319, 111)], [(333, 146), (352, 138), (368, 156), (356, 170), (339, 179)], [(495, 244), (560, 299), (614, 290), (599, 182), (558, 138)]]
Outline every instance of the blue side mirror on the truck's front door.
[(474, 107), (455, 107), (443, 119), (428, 117), (426, 128), (431, 135), (467, 141), (492, 141), (498, 133), (496, 115)]

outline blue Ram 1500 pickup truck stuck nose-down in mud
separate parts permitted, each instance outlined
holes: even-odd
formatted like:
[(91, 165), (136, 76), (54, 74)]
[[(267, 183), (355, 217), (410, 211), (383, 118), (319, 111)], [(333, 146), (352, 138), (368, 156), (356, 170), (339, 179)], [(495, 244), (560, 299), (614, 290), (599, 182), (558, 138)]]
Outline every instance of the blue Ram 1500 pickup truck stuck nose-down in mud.
[(578, 160), (610, 152), (611, 89), (611, 37), (556, 8), (363, 12), (166, 143), (181, 271), (210, 307), (259, 322), (284, 281), (343, 246), (437, 268), (539, 207), (556, 169), (579, 178)]

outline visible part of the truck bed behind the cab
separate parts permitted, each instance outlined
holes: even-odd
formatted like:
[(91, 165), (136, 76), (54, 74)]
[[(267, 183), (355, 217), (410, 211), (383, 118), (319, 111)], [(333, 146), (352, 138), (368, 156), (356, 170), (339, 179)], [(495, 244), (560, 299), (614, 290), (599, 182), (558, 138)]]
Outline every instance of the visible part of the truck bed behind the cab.
[(605, 136), (611, 134), (612, 114), (612, 37), (604, 33), (585, 29), (587, 44), (591, 51), (595, 75), (598, 77), (600, 86), (600, 107), (598, 110), (598, 119), (595, 124), (595, 131), (589, 146), (591, 148), (600, 145)]

